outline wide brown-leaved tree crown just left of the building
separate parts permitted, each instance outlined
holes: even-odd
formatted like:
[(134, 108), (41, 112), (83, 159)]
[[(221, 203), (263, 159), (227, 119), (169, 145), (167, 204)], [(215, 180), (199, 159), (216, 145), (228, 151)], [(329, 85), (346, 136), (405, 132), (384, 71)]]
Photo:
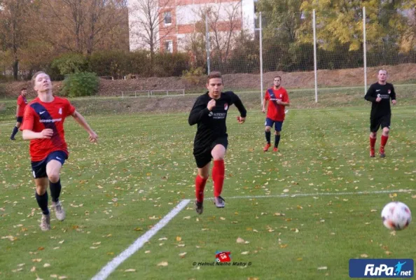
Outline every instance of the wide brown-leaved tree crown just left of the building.
[(43, 0), (43, 13), (43, 26), (53, 27), (46, 40), (62, 50), (91, 55), (114, 35), (127, 41), (127, 0)]

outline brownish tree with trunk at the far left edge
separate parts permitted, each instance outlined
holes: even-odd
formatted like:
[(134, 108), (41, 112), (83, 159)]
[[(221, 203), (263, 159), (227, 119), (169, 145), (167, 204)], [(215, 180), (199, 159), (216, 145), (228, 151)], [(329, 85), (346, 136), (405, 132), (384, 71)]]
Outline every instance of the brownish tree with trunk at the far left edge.
[(13, 78), (18, 80), (19, 51), (27, 43), (30, 34), (29, 18), (33, 1), (0, 0), (0, 40), (4, 50), (13, 55)]

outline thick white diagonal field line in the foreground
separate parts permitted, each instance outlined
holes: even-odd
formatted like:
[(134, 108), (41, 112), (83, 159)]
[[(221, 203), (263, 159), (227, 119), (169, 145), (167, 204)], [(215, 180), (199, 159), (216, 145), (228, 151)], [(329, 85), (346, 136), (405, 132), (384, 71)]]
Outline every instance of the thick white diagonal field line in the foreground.
[(172, 211), (169, 212), (165, 217), (162, 218), (162, 220), (159, 221), (151, 230), (148, 230), (144, 235), (141, 235), (132, 245), (130, 245), (125, 251), (120, 253), (120, 255), (117, 255), (116, 258), (113, 258), (111, 262), (107, 263), (106, 266), (104, 266), (100, 272), (95, 274), (94, 277), (92, 277), (91, 280), (104, 280), (106, 279), (111, 272), (113, 272), (118, 265), (120, 265), (122, 262), (127, 260), (132, 254), (136, 253), (139, 248), (141, 248), (147, 241), (149, 241), (153, 235), (155, 235), (159, 230), (161, 230), (169, 221), (174, 218), (179, 212), (186, 207), (186, 205), (190, 202), (190, 200), (182, 200)]

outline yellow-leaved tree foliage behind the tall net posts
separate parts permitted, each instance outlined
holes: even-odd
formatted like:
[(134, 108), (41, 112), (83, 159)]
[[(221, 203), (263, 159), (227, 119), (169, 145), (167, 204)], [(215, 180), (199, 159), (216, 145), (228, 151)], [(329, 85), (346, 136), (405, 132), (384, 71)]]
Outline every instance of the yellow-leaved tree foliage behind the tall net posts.
[[(307, 13), (303, 27), (312, 24), (312, 10), (317, 10), (317, 38), (319, 47), (334, 50), (340, 44), (349, 50), (359, 50), (363, 44), (363, 6), (366, 6), (366, 40), (368, 47), (376, 47), (384, 41), (395, 44), (398, 30), (394, 22), (403, 19), (398, 13), (401, 1), (304, 1), (302, 9)], [(310, 41), (311, 36), (303, 39)]]

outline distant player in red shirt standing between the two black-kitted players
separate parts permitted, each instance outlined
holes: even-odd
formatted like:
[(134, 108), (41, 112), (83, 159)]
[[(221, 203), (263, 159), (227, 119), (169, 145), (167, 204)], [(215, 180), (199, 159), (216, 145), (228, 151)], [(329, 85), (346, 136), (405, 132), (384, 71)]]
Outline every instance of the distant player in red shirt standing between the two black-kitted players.
[(280, 76), (275, 76), (273, 79), (273, 87), (269, 88), (265, 92), (264, 100), (263, 100), (263, 109), (262, 112), (265, 113), (265, 106), (268, 101), (268, 114), (265, 120), (265, 137), (266, 137), (266, 145), (263, 148), (263, 151), (268, 151), (270, 148), (270, 130), (275, 125), (275, 148), (273, 148), (274, 152), (277, 152), (277, 147), (279, 146), (280, 141), (280, 132), (282, 131), (282, 125), (284, 121), (284, 117), (286, 116), (285, 113), (285, 106), (290, 106), (289, 102), (289, 95), (287, 94), (286, 90), (282, 85), (282, 78)]

